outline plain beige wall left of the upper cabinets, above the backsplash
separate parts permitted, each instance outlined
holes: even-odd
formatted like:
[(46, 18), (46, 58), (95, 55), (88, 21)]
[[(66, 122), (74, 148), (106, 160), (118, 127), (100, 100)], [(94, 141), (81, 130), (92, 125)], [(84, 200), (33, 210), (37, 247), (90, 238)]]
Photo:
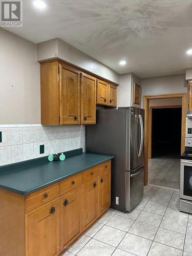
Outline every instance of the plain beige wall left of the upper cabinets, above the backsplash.
[(36, 45), (0, 28), (0, 124), (40, 123)]

